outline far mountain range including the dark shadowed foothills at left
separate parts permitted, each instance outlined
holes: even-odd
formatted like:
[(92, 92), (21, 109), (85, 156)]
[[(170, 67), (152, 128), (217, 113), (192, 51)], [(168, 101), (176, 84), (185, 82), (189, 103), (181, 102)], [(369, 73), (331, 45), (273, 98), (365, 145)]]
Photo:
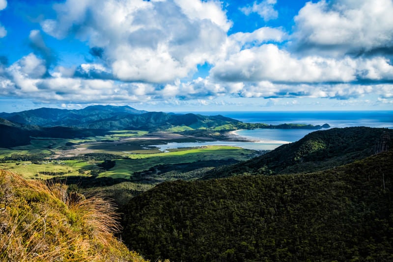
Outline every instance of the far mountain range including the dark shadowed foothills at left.
[(315, 130), (328, 127), (327, 124), (323, 126), (251, 124), (222, 115), (147, 112), (130, 106), (93, 105), (79, 110), (38, 108), (0, 113), (0, 147), (27, 145), (31, 137), (82, 138), (104, 135), (107, 131), (116, 130), (183, 131), (186, 135), (193, 135), (193, 131), (197, 131), (199, 135), (205, 130), (209, 132), (253, 128)]

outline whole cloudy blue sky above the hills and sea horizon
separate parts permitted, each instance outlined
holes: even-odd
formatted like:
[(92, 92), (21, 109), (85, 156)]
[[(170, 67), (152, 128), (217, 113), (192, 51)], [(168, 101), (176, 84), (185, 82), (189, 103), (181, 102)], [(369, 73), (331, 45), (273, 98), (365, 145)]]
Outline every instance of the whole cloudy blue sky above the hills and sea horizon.
[(0, 112), (393, 110), (393, 0), (0, 0)]

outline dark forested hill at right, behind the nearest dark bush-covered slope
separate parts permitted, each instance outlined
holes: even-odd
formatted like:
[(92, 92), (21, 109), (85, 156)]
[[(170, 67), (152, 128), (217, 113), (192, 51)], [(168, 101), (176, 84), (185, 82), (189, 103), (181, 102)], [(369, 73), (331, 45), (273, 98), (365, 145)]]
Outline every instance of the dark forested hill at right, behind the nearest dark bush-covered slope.
[(213, 169), (203, 179), (249, 174), (314, 172), (393, 148), (393, 130), (352, 127), (314, 131), (246, 162)]

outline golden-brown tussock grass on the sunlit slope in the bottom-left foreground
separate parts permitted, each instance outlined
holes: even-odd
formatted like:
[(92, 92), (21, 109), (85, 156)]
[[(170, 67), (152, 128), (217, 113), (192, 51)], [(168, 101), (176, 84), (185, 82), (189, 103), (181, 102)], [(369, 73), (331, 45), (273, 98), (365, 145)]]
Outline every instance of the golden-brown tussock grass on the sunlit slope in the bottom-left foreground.
[(119, 230), (102, 196), (0, 171), (0, 261), (144, 261), (113, 236)]

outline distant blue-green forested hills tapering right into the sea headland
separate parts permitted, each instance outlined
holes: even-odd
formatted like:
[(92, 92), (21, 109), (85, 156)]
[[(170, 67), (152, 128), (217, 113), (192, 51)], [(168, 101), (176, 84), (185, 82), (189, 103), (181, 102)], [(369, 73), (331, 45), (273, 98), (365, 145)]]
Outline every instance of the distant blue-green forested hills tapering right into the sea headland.
[(143, 131), (227, 131), (254, 128), (321, 129), (329, 125), (243, 123), (222, 115), (173, 114), (147, 112), (129, 106), (94, 105), (79, 110), (39, 108), (15, 113), (0, 113), (0, 118), (22, 124), (41, 127), (73, 127), (98, 130), (143, 130)]

